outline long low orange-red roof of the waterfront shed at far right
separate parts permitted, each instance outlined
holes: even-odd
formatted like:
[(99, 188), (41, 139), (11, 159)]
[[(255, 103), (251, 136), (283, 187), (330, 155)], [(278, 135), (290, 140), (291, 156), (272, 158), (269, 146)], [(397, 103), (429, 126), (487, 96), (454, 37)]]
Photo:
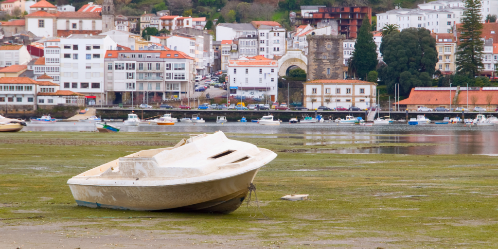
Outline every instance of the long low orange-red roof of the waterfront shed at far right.
[[(437, 89), (437, 88), (435, 88)], [(484, 88), (486, 89), (486, 88)], [(455, 90), (451, 91), (451, 100), (455, 97)], [(460, 105), (467, 103), (467, 91), (462, 90), (458, 92), (460, 97)], [(493, 97), (491, 105), (498, 105), (498, 90), (483, 90), (480, 88), (479, 91), (469, 90), (469, 101), (473, 96), (478, 98), (476, 105), (488, 105), (486, 98), (488, 95)], [(410, 96), (407, 99), (397, 102), (400, 105), (449, 105), (450, 103), (450, 91), (449, 90), (432, 90), (432, 91), (420, 91), (411, 89)], [(453, 104), (453, 101), (452, 101)]]

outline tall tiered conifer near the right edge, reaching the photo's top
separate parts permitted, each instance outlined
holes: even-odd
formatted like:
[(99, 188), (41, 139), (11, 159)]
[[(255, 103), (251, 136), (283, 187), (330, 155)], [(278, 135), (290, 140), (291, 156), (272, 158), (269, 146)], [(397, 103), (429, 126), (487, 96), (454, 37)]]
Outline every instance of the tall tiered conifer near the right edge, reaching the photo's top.
[(476, 76), (483, 64), (484, 41), (481, 40), (483, 24), (481, 23), (481, 0), (465, 0), (462, 25), (460, 32), (460, 44), (456, 55), (457, 71), (469, 76)]

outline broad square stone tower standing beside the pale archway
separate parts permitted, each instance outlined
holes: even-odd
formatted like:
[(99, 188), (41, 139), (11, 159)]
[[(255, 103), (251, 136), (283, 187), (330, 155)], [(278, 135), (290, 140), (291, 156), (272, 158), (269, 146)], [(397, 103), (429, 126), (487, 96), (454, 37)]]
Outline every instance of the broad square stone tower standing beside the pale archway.
[[(308, 80), (344, 79), (344, 35), (307, 35)], [(347, 70), (347, 69), (346, 69)]]

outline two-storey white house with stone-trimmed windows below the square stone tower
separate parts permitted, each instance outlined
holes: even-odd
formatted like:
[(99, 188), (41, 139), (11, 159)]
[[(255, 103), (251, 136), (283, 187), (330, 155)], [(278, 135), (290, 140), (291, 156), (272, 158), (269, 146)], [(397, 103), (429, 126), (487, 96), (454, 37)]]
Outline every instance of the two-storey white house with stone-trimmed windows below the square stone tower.
[(303, 83), (304, 106), (331, 109), (352, 106), (367, 109), (375, 106), (377, 84), (361, 80), (313, 80)]

